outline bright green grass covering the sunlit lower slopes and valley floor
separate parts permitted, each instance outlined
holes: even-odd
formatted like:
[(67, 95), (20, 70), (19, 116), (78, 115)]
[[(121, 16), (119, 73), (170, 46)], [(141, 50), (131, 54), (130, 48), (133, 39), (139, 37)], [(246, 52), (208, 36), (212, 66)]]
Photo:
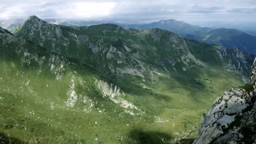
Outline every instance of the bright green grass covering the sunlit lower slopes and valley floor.
[[(221, 69), (204, 69), (205, 77), (198, 78), (203, 87), (193, 83), (181, 85), (163, 75), (165, 80), (149, 85), (155, 91), (136, 85), (124, 89), (123, 99), (144, 112), (132, 116), (102, 97), (94, 86), (95, 74), (86, 67), (66, 67), (61, 80), (56, 80), (47, 66), (38, 75), (39, 70), (21, 68), (18, 61), (1, 59), (0, 63), (0, 131), (27, 143), (161, 143), (159, 137), (168, 142), (176, 142), (175, 137), (194, 139), (203, 113), (213, 100), (223, 90), (242, 85), (238, 74)], [(76, 83), (76, 93), (94, 101), (91, 112), (83, 111), (85, 106), (80, 98), (74, 108), (65, 106), (70, 74), (75, 81), (84, 81)], [(223, 83), (226, 79), (229, 81)], [(98, 109), (104, 112), (99, 113)], [(164, 122), (157, 122), (157, 117)]]

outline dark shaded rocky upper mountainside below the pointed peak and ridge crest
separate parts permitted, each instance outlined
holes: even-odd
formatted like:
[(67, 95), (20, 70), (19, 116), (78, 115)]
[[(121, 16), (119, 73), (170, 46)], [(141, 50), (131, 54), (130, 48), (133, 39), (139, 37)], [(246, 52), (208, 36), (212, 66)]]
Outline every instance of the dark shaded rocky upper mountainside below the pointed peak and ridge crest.
[[(180, 73), (194, 65), (225, 65), (216, 47), (189, 41), (161, 29), (125, 30), (115, 24), (65, 27), (31, 16), (15, 35), (109, 75), (124, 74), (122, 69), (129, 69), (128, 73), (145, 77), (144, 73), (152, 68), (171, 66)], [(200, 52), (205, 54), (198, 54)], [(250, 68), (245, 66), (245, 69), (246, 73), (250, 72)]]

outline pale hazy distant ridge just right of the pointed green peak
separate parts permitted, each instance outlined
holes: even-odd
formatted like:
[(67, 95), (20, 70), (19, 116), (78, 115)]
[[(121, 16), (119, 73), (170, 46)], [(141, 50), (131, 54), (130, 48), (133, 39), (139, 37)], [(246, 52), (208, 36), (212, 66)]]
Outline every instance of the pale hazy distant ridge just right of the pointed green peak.
[(97, 24), (103, 24), (100, 21), (81, 21), (81, 20), (63, 20), (63, 19), (45, 19), (46, 22), (50, 24), (58, 24), (63, 26), (91, 26), (91, 25), (97, 25)]

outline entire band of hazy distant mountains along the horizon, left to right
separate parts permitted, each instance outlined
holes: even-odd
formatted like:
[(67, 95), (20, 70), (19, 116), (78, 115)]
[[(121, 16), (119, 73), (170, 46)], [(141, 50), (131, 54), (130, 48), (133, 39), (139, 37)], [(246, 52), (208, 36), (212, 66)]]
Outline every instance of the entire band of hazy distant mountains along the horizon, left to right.
[[(64, 26), (91, 26), (104, 23), (118, 24), (115, 22), (100, 22), (100, 21), (81, 21), (81, 20), (63, 20), (63, 19), (45, 19), (46, 22), (51, 24), (58, 24)], [(5, 29), (13, 30), (23, 23), (22, 20), (3, 21), (0, 23)], [(187, 37), (192, 40), (199, 40), (208, 44), (216, 44), (224, 46), (228, 49), (235, 47), (241, 48), (246, 53), (255, 54), (255, 41), (256, 37), (253, 31), (242, 32), (237, 29), (225, 29), (217, 27), (199, 27), (188, 24), (184, 21), (176, 21), (175, 19), (160, 20), (150, 24), (118, 24), (125, 29), (151, 29), (160, 28), (174, 32), (182, 37)]]

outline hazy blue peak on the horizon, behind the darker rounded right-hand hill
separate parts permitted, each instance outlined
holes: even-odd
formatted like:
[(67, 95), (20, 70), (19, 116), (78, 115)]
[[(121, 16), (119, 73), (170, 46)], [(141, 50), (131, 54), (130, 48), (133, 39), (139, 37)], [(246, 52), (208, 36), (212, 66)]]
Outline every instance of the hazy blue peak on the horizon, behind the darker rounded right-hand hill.
[(210, 27), (199, 27), (188, 24), (184, 21), (176, 21), (175, 19), (160, 20), (151, 24), (124, 24), (122, 25), (125, 29), (151, 29), (159, 28), (174, 32), (177, 35), (202, 35), (210, 32), (214, 28)]

